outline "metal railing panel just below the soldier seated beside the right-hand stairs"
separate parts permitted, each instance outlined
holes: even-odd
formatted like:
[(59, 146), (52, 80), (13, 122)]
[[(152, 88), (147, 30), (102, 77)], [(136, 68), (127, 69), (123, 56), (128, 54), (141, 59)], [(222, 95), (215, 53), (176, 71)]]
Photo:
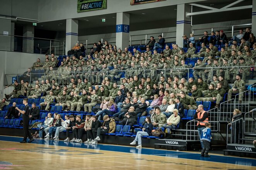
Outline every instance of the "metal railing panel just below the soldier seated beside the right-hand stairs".
[(250, 98), (249, 90), (246, 90), (244, 92), (236, 94), (235, 107), (243, 113), (248, 112), (249, 111), (249, 100), (250, 100), (249, 98)]

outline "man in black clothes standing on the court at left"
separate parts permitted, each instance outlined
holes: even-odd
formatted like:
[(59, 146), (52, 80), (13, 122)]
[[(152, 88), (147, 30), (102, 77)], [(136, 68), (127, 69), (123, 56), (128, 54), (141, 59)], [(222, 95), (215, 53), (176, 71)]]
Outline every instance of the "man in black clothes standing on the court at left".
[(23, 120), (23, 133), (24, 139), (20, 141), (20, 143), (27, 143), (27, 137), (29, 137), (28, 143), (31, 143), (34, 139), (29, 132), (29, 105), (27, 104), (27, 98), (23, 99), (23, 104), (25, 105), (23, 110), (20, 110), (18, 107), (15, 107), (20, 113), (22, 113), (22, 120)]

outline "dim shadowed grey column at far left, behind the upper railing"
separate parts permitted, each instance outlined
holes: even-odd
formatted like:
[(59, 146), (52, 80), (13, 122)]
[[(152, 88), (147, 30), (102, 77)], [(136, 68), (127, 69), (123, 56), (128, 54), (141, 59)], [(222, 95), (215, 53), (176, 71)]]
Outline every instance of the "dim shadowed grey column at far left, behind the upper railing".
[(34, 26), (32, 23), (23, 26), (22, 52), (34, 53)]

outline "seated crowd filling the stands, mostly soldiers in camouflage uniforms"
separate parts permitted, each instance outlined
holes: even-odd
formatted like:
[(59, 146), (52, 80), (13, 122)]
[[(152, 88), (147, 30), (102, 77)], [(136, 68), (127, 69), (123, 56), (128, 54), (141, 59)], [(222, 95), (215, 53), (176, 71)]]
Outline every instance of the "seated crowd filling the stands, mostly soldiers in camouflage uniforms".
[[(85, 59), (76, 53), (59, 61), (54, 53), (51, 53), (51, 57), (46, 55), (44, 63), (37, 59), (37, 62), (21, 77), (22, 80), (13, 84), (13, 92), (5, 94), (5, 98), (9, 99), (12, 95), (15, 98), (20, 95), (27, 98), (41, 97), (44, 99), (44, 102), (39, 103), (41, 110), (49, 111), (50, 104), (54, 104), (62, 106), (63, 111), (96, 113), (92, 117), (86, 115), (85, 120), (79, 115), (76, 117), (65, 115), (63, 120), (57, 113), (53, 116), (48, 113), (44, 125), (38, 126), (39, 137), (43, 138), (44, 130), (45, 139), (52, 137), (58, 140), (58, 133), (67, 130), (68, 141), (70, 140), (68, 129), (70, 129), (74, 134), (74, 138), (70, 141), (82, 142), (82, 135), (86, 133), (88, 140), (85, 142), (97, 143), (101, 134), (114, 132), (115, 121), (121, 125), (133, 126), (137, 123), (137, 117), (147, 116), (143, 131), (137, 133), (137, 137), (131, 143), (135, 144), (138, 141), (141, 147), (141, 136), (150, 135), (153, 127), (163, 127), (167, 135), (170, 134), (171, 129), (176, 128), (184, 116), (184, 109), (198, 109), (196, 101), (216, 102), (215, 107), (219, 107), (225, 93), (229, 100), (232, 93), (246, 90), (246, 77), (253, 73), (254, 67), (250, 66), (255, 65), (255, 38), (253, 42), (252, 33), (249, 34), (249, 39), (246, 39), (248, 33), (244, 36), (237, 35), (229, 46), (227, 41), (218, 38), (215, 41), (214, 38), (222, 37), (223, 31), (218, 33), (215, 36), (212, 32), (213, 35), (209, 38), (205, 32), (204, 37), (199, 39), (201, 48), (197, 53), (193, 38), (187, 42), (189, 45), (187, 52), (172, 43), (172, 49), (166, 45), (165, 49), (158, 53), (157, 49), (164, 47), (165, 40), (162, 36), (159, 36), (159, 42), (155, 42), (154, 37), (150, 37), (145, 51), (136, 48), (133, 52), (128, 48), (122, 51), (115, 45), (112, 46), (108, 42), (103, 45), (99, 41), (94, 43), (90, 55)], [(217, 44), (225, 47), (218, 51), (215, 46)], [(79, 49), (78, 44), (75, 47)], [(75, 47), (73, 53), (76, 52)], [(250, 47), (253, 49), (250, 50)], [(153, 53), (152, 49), (154, 49)], [(186, 64), (186, 58), (196, 57), (203, 59), (197, 60), (192, 67), (194, 78), (190, 77), (187, 81), (184, 77), (190, 67)], [(239, 67), (237, 74), (237, 66), (249, 67)], [(212, 71), (212, 67), (217, 68)], [(46, 75), (41, 77), (32, 75), (30, 73), (33, 70), (44, 70)], [(121, 77), (121, 72), (124, 71), (126, 77)], [(41, 83), (38, 80), (40, 78)], [(118, 78), (121, 78), (120, 85)], [(29, 80), (34, 80), (35, 85), (32, 86)], [(231, 88), (229, 82), (233, 83)], [(0, 110), (7, 105), (6, 99), (2, 100)], [(241, 102), (242, 94), (239, 95), (239, 103)], [(97, 103), (100, 104), (99, 109), (92, 110)], [(15, 104), (13, 103), (14, 108)], [(148, 113), (148, 108), (151, 108), (152, 112)], [(14, 113), (13, 109), (8, 112), (10, 112), (8, 118), (16, 118), (19, 115)], [(38, 117), (37, 114), (37, 117), (31, 120)], [(104, 121), (103, 125), (99, 120)]]

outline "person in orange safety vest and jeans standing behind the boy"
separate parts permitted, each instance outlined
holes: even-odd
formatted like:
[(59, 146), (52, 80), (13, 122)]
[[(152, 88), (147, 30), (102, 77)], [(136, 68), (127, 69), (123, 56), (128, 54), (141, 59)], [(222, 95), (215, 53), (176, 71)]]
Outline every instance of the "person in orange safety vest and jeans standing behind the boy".
[(198, 108), (196, 110), (196, 113), (194, 115), (194, 119), (197, 120), (197, 130), (198, 130), (198, 136), (200, 138), (200, 143), (203, 148), (203, 142), (201, 140), (202, 130), (205, 128), (205, 123), (208, 123), (208, 113), (203, 110), (203, 105), (198, 105)]

